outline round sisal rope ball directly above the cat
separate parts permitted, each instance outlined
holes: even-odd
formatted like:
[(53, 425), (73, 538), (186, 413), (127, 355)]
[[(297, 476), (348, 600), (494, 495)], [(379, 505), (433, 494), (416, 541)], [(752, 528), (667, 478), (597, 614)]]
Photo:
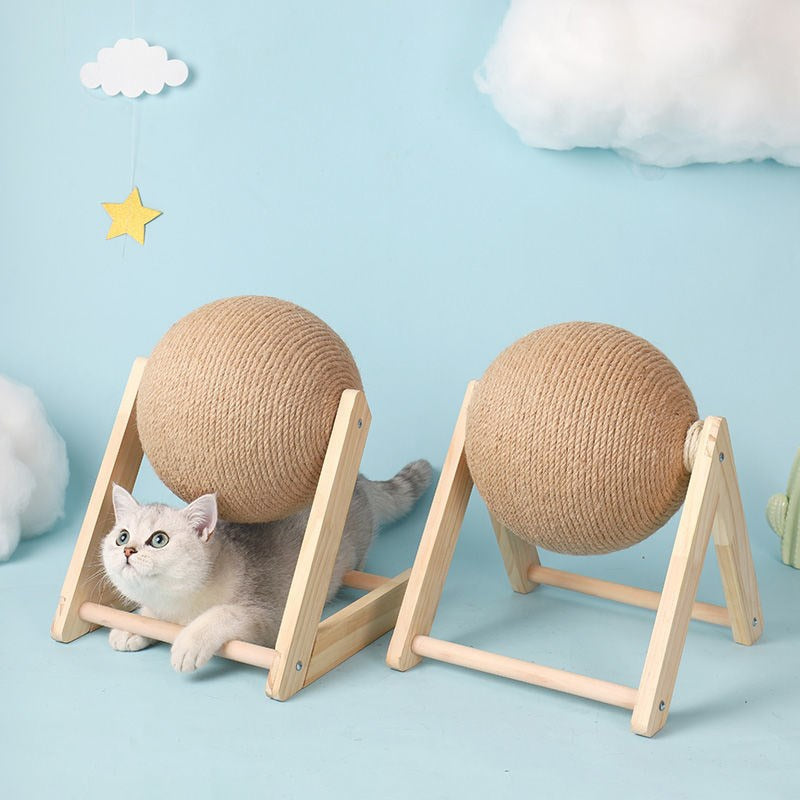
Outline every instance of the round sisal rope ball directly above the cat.
[(342, 391), (360, 388), (347, 346), (310, 311), (273, 297), (218, 300), (156, 345), (139, 436), (183, 500), (216, 492), (224, 519), (269, 522), (311, 502)]

